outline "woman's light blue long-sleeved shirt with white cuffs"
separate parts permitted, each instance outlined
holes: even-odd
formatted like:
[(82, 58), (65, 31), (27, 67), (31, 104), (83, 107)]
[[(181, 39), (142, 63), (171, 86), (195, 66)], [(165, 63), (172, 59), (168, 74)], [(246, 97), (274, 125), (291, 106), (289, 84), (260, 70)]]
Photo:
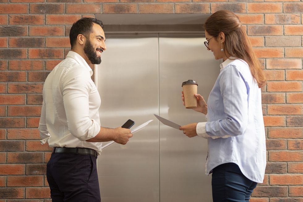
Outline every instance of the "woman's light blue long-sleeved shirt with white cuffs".
[(207, 122), (196, 128), (199, 136), (208, 138), (206, 174), (232, 162), (245, 177), (262, 183), (266, 145), (261, 89), (245, 61), (227, 59), (220, 67), (207, 101)]

